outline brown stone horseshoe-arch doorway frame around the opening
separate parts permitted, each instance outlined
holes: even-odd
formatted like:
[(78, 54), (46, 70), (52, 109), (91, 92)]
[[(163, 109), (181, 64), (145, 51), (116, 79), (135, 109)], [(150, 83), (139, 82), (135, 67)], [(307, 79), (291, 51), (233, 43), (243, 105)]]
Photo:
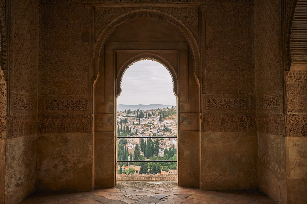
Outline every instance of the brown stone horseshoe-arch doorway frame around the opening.
[[(169, 23), (184, 36), (186, 42), (107, 41), (116, 28), (141, 18)], [(177, 92), (177, 183), (183, 187), (199, 187), (200, 54), (190, 30), (179, 20), (160, 11), (132, 11), (115, 19), (99, 34), (93, 56), (93, 187), (116, 185), (115, 110), (116, 95), (120, 93), (119, 78), (129, 64), (144, 57), (161, 61), (171, 72), (174, 92)], [(191, 160), (191, 157), (195, 159)], [(114, 158), (113, 161), (110, 158)], [(182, 168), (181, 162), (184, 164)]]

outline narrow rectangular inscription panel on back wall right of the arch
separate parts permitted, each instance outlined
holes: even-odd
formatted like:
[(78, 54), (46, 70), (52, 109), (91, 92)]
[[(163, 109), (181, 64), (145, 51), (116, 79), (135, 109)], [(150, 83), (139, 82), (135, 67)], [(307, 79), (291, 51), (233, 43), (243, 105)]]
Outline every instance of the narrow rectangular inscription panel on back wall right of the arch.
[(206, 98), (206, 109), (246, 109), (246, 98)]

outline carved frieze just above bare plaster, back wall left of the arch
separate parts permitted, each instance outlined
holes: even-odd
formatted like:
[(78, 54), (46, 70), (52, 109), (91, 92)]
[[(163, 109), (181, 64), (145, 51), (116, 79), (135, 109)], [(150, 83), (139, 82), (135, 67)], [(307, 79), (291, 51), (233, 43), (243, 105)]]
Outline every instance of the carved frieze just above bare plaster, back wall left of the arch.
[(38, 117), (38, 133), (91, 132), (91, 115), (41, 115)]

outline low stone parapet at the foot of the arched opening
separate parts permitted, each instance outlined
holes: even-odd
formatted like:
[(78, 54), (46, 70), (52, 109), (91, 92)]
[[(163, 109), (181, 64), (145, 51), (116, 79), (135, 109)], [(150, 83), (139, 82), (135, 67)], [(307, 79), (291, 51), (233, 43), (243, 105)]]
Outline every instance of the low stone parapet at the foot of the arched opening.
[(117, 181), (177, 181), (177, 174), (117, 174)]

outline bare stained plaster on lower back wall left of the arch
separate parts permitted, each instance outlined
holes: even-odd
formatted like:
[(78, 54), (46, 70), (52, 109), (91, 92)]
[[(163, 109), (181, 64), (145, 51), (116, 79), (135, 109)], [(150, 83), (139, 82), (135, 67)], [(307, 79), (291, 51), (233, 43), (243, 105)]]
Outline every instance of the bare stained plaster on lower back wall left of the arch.
[(92, 190), (92, 136), (39, 134), (37, 137), (37, 191)]

